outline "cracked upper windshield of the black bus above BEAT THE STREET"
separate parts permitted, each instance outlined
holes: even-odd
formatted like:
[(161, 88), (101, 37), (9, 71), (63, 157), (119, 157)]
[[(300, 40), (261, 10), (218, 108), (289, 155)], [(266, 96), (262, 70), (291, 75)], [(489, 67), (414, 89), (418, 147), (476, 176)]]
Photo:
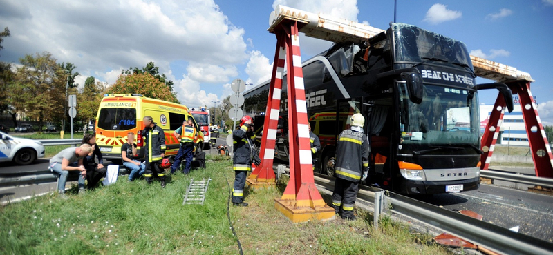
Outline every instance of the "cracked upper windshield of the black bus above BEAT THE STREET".
[(465, 43), (423, 30), (416, 26), (393, 23), (395, 61), (420, 63), (440, 59), (440, 65), (466, 65), (472, 69)]

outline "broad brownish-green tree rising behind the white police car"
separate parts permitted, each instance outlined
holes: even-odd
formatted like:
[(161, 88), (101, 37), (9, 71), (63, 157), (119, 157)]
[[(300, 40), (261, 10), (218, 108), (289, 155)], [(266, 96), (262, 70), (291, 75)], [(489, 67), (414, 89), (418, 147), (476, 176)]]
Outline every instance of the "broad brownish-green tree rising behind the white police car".
[(13, 83), (8, 85), (8, 103), (32, 119), (61, 119), (65, 105), (64, 71), (49, 52), (26, 54), (19, 59)]

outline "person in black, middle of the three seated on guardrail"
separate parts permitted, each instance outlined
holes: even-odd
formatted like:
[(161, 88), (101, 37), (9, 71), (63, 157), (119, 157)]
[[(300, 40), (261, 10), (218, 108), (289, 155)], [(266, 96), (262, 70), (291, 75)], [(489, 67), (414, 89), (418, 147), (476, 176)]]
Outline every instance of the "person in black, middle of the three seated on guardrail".
[[(96, 134), (85, 134), (82, 138), (81, 144), (91, 145), (93, 152), (88, 154), (83, 159), (83, 165), (86, 168), (86, 181), (89, 190), (93, 190), (100, 179), (106, 176), (108, 170), (104, 167), (104, 157), (100, 152), (100, 147), (96, 145)], [(96, 163), (96, 157), (98, 163)]]

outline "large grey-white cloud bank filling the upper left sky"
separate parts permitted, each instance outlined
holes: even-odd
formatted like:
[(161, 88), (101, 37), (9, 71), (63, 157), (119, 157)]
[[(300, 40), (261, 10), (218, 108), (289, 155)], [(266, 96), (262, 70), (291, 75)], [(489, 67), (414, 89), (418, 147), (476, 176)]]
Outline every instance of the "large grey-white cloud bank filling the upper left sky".
[[(104, 76), (153, 61), (160, 72), (169, 63), (241, 64), (247, 59), (245, 31), (236, 28), (214, 0), (190, 1), (2, 1), (0, 23), (12, 37), (2, 60), (48, 51), (82, 74)], [(115, 76), (116, 78), (116, 76)]]

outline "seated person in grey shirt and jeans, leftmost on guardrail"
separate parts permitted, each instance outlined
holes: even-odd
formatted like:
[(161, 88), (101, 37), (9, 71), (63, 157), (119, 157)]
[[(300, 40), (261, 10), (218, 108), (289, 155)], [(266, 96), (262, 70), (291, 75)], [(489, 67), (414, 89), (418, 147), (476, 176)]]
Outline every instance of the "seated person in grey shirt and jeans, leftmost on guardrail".
[[(93, 152), (91, 145), (83, 144), (80, 147), (69, 147), (62, 150), (50, 159), (48, 170), (59, 175), (57, 190), (60, 197), (64, 199), (67, 198), (65, 195), (65, 183), (67, 180), (67, 174), (69, 174), (68, 171), (81, 172), (79, 175), (79, 193), (84, 190), (86, 168), (83, 165), (83, 158), (91, 152)], [(75, 165), (74, 162), (77, 162), (77, 165)]]

